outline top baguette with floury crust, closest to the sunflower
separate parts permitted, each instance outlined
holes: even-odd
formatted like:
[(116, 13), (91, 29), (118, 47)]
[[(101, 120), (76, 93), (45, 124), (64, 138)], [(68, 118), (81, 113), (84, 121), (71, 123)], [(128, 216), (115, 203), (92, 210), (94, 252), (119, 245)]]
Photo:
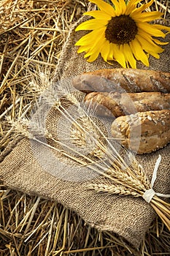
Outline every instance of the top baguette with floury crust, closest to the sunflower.
[(100, 69), (72, 79), (74, 88), (84, 91), (170, 93), (170, 73), (144, 69)]

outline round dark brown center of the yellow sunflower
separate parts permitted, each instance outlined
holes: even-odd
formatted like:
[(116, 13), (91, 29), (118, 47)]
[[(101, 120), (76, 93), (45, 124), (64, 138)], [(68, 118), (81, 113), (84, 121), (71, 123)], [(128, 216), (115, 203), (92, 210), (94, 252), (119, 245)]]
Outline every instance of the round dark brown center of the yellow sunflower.
[(107, 24), (105, 37), (109, 42), (117, 45), (131, 42), (136, 36), (138, 28), (135, 21), (128, 15), (112, 17)]

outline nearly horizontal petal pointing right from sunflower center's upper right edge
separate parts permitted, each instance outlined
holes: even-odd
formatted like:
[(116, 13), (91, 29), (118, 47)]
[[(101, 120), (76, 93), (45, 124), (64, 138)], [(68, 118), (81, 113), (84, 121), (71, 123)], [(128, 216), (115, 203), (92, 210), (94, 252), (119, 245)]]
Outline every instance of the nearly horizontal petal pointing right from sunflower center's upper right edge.
[(159, 18), (161, 18), (162, 15), (163, 15), (163, 13), (155, 11), (155, 12), (144, 12), (144, 13), (139, 13), (139, 14), (132, 12), (132, 14), (130, 16), (135, 21), (143, 23), (143, 22), (159, 19)]

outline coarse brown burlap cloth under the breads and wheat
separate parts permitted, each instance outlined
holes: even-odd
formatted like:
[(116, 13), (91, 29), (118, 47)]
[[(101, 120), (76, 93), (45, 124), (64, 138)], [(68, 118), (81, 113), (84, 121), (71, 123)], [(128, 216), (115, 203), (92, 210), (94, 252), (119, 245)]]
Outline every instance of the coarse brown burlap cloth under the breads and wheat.
[[(64, 45), (56, 69), (55, 80), (74, 77), (74, 75), (90, 70), (120, 67), (116, 63), (111, 67), (100, 57), (91, 64), (85, 61), (83, 53), (77, 54), (77, 47), (74, 47), (74, 43), (84, 32), (75, 33), (74, 27)], [(166, 41), (169, 39), (170, 37), (166, 37)], [(169, 53), (170, 47), (166, 46), (165, 51), (161, 54), (161, 59), (150, 58), (150, 69), (169, 72)], [(145, 69), (146, 67), (138, 64), (138, 68)], [(52, 111), (49, 126), (53, 126), (55, 117), (55, 111)], [(0, 178), (5, 185), (28, 194), (56, 200), (63, 206), (76, 211), (92, 227), (117, 233), (134, 246), (139, 246), (155, 218), (155, 212), (148, 203), (139, 197), (98, 195), (96, 192), (86, 189), (86, 185), (90, 181), (67, 181), (64, 178), (53, 176), (52, 173), (47, 173), (37, 161), (37, 155), (41, 155), (42, 159), (47, 162), (48, 154), (45, 153), (45, 148), (39, 143), (34, 143), (34, 151), (32, 147), (33, 143), (24, 138), (12, 151), (6, 151), (3, 154)], [(154, 154), (138, 156), (137, 159), (144, 167), (148, 177), (151, 178), (158, 154), (161, 154), (162, 161), (158, 168), (158, 178), (155, 181), (154, 189), (156, 192), (169, 194), (170, 145)], [(55, 161), (53, 165), (55, 165)], [(57, 164), (55, 169), (58, 170)]]

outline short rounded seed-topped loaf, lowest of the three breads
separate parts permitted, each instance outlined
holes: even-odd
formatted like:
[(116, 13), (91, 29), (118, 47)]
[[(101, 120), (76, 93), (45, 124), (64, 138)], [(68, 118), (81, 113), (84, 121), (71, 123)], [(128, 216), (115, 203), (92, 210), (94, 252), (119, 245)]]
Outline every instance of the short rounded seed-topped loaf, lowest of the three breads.
[(117, 117), (112, 123), (112, 136), (138, 154), (163, 148), (170, 142), (170, 110)]

